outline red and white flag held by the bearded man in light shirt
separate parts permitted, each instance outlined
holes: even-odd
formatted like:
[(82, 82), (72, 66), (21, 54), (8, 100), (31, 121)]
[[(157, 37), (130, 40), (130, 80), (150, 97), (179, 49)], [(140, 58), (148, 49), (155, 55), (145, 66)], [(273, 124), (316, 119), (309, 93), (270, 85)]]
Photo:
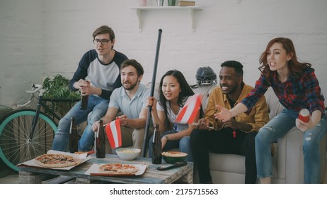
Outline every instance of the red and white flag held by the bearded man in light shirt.
[(120, 131), (119, 118), (105, 126), (105, 133), (111, 148), (122, 146), (122, 133)]

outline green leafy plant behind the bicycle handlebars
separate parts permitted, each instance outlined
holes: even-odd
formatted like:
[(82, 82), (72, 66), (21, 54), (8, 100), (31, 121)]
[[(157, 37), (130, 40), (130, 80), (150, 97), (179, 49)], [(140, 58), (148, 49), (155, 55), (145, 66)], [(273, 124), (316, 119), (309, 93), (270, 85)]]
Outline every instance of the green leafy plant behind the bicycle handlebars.
[[(48, 107), (54, 110), (54, 112), (59, 112), (62, 116), (71, 109), (76, 101), (81, 99), (79, 91), (71, 91), (69, 89), (69, 79), (60, 74), (45, 78), (43, 88), (45, 90), (43, 98), (47, 100)], [(56, 101), (58, 99), (59, 101)], [(67, 101), (67, 99), (72, 100)]]

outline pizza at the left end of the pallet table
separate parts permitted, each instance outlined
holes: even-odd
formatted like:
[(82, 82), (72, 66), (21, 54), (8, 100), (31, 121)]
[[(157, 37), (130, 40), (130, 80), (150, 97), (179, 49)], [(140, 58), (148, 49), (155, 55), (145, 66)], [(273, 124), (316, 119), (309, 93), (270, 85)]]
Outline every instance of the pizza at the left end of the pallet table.
[(46, 168), (63, 168), (79, 164), (81, 159), (63, 154), (44, 154), (35, 158), (34, 161)]

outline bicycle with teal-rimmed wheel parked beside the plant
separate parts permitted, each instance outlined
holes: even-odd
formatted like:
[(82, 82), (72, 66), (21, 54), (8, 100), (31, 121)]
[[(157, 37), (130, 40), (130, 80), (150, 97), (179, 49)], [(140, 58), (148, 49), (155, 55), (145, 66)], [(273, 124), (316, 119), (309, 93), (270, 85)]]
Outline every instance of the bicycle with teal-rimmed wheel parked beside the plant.
[[(0, 122), (0, 158), (9, 168), (18, 171), (17, 164), (29, 161), (47, 153), (52, 148), (54, 134), (57, 132), (57, 122), (60, 120), (54, 110), (47, 107), (46, 102), (76, 102), (76, 99), (44, 99), (42, 85), (34, 84), (32, 90), (25, 91), (31, 95), (30, 100), (23, 105), (26, 107), (35, 98), (38, 104), (35, 109), (18, 109), (4, 117)], [(38, 93), (38, 97), (35, 96)], [(43, 107), (52, 117), (41, 112)]]

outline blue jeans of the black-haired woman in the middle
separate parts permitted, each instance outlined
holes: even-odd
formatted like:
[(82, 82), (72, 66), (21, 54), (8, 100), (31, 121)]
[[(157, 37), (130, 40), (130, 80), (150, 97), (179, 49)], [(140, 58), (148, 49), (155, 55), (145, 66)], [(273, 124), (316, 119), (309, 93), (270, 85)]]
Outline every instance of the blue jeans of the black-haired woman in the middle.
[[(175, 134), (178, 133), (175, 130), (167, 131), (161, 134), (161, 137), (167, 135), (167, 134)], [(154, 139), (154, 136), (151, 136), (149, 139), (149, 157), (152, 156), (152, 140)], [(176, 140), (168, 140), (166, 145), (164, 146), (164, 151), (171, 149), (171, 148), (179, 148), (181, 152), (188, 153), (188, 156), (185, 158), (185, 161), (192, 161), (193, 162), (193, 156), (192, 151), (190, 148), (190, 136), (184, 136), (182, 139), (176, 139)]]

